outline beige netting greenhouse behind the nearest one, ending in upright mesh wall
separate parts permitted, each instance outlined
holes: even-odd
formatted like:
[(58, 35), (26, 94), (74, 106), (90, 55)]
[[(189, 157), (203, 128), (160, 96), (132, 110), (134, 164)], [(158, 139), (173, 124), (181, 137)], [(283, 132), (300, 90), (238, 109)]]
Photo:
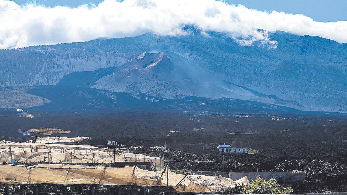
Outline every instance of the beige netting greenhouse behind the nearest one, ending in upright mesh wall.
[(114, 163), (114, 162), (150, 162), (152, 170), (164, 167), (164, 158), (144, 154), (113, 153), (99, 150), (66, 150), (36, 148), (0, 149), (0, 162), (11, 162), (12, 159), (25, 164), (40, 163)]

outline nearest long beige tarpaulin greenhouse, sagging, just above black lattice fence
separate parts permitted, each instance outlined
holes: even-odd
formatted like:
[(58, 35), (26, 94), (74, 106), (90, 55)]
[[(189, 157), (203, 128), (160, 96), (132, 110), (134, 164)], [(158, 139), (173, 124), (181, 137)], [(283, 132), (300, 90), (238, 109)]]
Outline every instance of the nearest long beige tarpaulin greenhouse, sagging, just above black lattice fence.
[(42, 164), (29, 167), (0, 164), (0, 182), (172, 186), (177, 192), (221, 191), (216, 187), (196, 184), (186, 175), (171, 172), (168, 166), (160, 171), (148, 171), (135, 166), (106, 168)]

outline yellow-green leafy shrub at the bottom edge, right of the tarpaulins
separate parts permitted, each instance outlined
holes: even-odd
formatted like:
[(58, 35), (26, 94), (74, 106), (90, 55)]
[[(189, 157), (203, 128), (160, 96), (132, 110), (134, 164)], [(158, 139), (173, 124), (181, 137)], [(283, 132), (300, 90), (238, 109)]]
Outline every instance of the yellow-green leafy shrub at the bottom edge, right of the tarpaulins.
[(274, 178), (269, 181), (258, 179), (247, 185), (236, 185), (223, 190), (227, 194), (290, 194), (292, 191), (291, 187), (279, 185)]

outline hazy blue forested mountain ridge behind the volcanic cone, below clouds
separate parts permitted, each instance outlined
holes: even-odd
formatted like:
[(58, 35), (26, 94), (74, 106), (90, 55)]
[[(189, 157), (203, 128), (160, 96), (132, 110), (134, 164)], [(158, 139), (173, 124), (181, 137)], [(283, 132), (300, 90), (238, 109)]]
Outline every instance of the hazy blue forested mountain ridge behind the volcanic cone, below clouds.
[(268, 38), (277, 41), (276, 49), (196, 31), (1, 50), (0, 85), (53, 85), (74, 71), (118, 67), (144, 51), (170, 50), (228, 82), (310, 109), (346, 112), (347, 44), (279, 31)]

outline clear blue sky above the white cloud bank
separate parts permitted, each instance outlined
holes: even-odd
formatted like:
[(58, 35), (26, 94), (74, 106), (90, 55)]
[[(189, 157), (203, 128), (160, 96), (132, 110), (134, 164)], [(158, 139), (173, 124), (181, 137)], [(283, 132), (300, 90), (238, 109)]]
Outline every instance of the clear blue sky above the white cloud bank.
[[(77, 7), (84, 3), (97, 4), (102, 0), (36, 0), (37, 3), (54, 7), (56, 5)], [(242, 4), (257, 10), (276, 10), (290, 14), (304, 14), (320, 22), (347, 20), (347, 0), (226, 0), (231, 4)], [(15, 0), (19, 5), (27, 0)]]

